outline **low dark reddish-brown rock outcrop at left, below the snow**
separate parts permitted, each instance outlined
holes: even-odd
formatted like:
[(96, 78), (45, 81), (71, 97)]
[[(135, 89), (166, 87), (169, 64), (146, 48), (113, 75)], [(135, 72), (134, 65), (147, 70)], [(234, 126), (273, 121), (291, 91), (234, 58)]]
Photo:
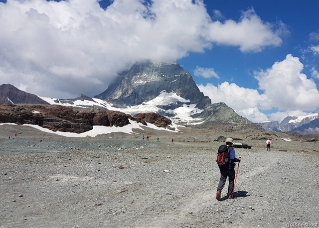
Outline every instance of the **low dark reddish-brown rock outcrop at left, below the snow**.
[[(143, 118), (159, 127), (171, 123), (158, 114), (143, 115)], [(118, 111), (59, 105), (0, 105), (0, 123), (35, 124), (52, 131), (82, 133), (94, 125), (121, 127), (129, 124), (129, 119), (146, 125), (144, 119)]]

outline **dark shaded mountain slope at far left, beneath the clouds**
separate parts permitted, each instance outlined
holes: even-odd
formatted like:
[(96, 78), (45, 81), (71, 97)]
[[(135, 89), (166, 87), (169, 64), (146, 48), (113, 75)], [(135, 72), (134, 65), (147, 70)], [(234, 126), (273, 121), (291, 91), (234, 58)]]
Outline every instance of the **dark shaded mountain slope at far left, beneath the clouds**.
[(42, 100), (36, 95), (26, 93), (22, 90), (15, 88), (10, 84), (2, 84), (0, 86), (0, 104), (45, 104), (46, 101)]

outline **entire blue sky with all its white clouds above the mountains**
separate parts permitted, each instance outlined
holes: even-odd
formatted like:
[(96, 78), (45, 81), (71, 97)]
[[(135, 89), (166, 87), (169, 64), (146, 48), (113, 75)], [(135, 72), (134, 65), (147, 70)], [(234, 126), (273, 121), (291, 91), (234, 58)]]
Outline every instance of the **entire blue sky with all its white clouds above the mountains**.
[(251, 121), (319, 109), (318, 0), (0, 0), (0, 83), (93, 97), (136, 61), (177, 61)]

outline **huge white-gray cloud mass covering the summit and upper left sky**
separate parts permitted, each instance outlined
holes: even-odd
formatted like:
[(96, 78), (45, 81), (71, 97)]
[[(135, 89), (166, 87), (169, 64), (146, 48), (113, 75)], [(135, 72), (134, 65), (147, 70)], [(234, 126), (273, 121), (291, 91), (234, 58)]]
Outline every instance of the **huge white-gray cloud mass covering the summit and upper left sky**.
[(281, 28), (253, 10), (213, 21), (201, 0), (114, 0), (106, 9), (97, 0), (7, 0), (0, 28), (1, 82), (57, 98), (97, 95), (144, 59), (177, 60), (216, 43), (256, 52), (282, 42)]

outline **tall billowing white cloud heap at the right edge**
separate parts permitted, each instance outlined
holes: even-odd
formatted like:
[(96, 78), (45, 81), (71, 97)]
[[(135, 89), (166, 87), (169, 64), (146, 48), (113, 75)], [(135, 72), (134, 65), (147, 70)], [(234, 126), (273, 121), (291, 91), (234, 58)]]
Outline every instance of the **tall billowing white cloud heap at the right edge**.
[(298, 57), (288, 54), (271, 68), (255, 73), (259, 89), (273, 108), (279, 110), (314, 110), (319, 106), (316, 83), (302, 73), (304, 65)]

